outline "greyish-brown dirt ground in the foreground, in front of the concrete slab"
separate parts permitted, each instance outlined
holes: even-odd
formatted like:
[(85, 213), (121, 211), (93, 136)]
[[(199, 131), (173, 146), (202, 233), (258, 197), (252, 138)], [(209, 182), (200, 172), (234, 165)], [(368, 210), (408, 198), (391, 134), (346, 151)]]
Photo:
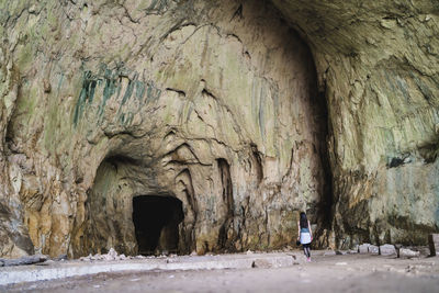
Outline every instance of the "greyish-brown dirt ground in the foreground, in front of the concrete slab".
[[(32, 292), (439, 292), (439, 257), (316, 256), (290, 268), (150, 271), (10, 285)], [(1, 289), (0, 289), (1, 291)]]

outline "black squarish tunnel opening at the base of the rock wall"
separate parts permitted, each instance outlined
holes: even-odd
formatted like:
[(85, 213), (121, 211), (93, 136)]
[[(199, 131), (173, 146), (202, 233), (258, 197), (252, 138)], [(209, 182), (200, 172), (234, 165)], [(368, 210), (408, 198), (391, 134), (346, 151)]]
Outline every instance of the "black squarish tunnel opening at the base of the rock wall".
[(138, 253), (178, 252), (182, 202), (173, 196), (138, 195), (133, 198), (133, 223)]

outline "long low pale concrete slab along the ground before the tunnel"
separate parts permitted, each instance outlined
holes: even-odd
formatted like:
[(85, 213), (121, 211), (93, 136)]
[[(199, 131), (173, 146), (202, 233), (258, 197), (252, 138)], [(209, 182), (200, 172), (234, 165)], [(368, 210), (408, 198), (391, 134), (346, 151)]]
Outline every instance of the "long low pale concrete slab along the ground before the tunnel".
[[(252, 253), (221, 256), (181, 256), (119, 261), (65, 261), (48, 266), (21, 266), (0, 268), (0, 285), (22, 282), (55, 280), (102, 272), (150, 270), (212, 270), (245, 269), (255, 267), (282, 268), (299, 263), (300, 252)], [(263, 266), (261, 266), (263, 263)]]

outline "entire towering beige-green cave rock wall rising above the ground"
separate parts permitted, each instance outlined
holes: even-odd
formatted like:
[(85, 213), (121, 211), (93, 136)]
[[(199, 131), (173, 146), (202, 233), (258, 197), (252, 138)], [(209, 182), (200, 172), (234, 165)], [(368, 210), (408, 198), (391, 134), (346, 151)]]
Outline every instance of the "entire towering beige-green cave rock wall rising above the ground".
[(424, 244), (438, 10), (4, 1), (0, 256)]

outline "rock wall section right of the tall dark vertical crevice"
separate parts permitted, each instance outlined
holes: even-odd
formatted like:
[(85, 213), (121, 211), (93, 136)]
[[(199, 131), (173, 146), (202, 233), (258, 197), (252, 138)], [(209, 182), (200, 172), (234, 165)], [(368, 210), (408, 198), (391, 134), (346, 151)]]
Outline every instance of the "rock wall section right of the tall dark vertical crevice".
[(273, 2), (326, 92), (336, 245), (426, 244), (439, 228), (438, 2)]

